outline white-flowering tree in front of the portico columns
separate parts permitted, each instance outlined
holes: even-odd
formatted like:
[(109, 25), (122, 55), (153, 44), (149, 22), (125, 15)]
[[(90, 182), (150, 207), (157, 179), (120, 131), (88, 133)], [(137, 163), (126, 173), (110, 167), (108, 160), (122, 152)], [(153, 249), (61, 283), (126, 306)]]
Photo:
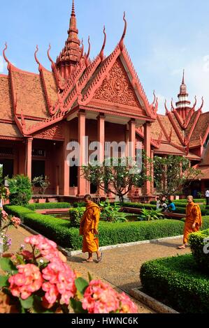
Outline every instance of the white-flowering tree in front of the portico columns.
[(130, 167), (130, 158), (108, 158), (108, 162), (109, 165), (106, 165), (106, 160), (102, 166), (99, 163), (89, 163), (82, 167), (82, 175), (106, 193), (117, 195), (120, 202), (123, 202), (124, 195), (127, 195), (133, 186), (140, 188), (146, 180), (151, 180), (151, 177), (145, 174), (144, 161), (140, 168), (134, 161)]

